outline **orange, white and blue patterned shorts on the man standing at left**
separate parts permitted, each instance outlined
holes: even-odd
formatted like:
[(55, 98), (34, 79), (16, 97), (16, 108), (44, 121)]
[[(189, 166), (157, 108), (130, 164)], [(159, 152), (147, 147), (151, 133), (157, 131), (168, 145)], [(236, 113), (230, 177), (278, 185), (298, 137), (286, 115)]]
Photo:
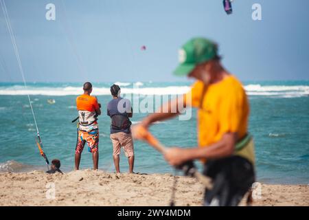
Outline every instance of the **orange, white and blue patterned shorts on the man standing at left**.
[(98, 152), (99, 148), (99, 129), (93, 129), (92, 131), (78, 130), (78, 140), (76, 143), (75, 153), (80, 154), (84, 149), (84, 144), (88, 144), (88, 152)]

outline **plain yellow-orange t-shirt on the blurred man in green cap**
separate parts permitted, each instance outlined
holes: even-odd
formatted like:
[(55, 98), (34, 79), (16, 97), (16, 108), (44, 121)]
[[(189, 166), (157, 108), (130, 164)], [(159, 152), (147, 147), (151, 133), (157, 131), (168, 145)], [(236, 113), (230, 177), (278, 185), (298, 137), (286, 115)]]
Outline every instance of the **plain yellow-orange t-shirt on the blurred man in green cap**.
[[(185, 102), (198, 108), (198, 146), (214, 144), (227, 132), (237, 132), (240, 139), (247, 134), (249, 102), (235, 76), (226, 76), (207, 88), (197, 81), (185, 95)], [(249, 157), (252, 155), (253, 152)], [(254, 162), (254, 158), (247, 159)]]

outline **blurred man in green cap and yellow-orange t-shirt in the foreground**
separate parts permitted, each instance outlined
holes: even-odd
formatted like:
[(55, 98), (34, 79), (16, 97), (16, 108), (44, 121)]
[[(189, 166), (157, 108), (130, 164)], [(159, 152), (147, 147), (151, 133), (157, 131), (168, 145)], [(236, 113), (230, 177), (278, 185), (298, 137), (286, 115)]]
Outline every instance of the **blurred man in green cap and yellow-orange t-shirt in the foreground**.
[(249, 102), (241, 83), (222, 67), (217, 50), (216, 43), (208, 39), (185, 43), (174, 74), (194, 78), (196, 83), (181, 100), (171, 100), (139, 126), (148, 129), (154, 122), (181, 113), (183, 107), (197, 108), (198, 146), (169, 148), (164, 157), (173, 166), (201, 159), (205, 175), (214, 183), (212, 190), (205, 191), (205, 206), (237, 206), (255, 181), (254, 146), (247, 131)]

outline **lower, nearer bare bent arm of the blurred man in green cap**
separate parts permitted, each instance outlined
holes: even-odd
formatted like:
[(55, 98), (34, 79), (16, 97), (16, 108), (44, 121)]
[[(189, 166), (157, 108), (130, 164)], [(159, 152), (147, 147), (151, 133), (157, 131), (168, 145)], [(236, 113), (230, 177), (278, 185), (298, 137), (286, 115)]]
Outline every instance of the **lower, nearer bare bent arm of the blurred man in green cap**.
[(210, 146), (200, 148), (169, 148), (165, 154), (165, 159), (173, 166), (183, 164), (193, 159), (217, 159), (228, 157), (233, 154), (237, 142), (237, 133), (225, 133), (220, 141)]

